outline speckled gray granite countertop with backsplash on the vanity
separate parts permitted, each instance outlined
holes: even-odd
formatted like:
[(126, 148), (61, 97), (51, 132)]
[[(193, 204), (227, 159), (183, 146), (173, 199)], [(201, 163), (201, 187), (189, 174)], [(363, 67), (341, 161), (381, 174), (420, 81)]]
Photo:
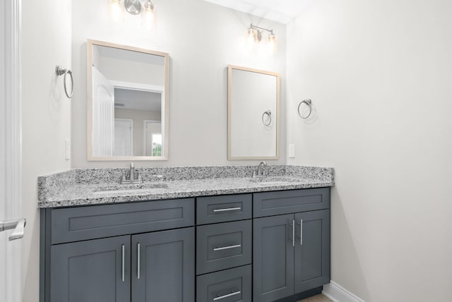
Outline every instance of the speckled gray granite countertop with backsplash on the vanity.
[(332, 168), (275, 165), (266, 179), (251, 166), (136, 169), (143, 183), (121, 185), (129, 169), (73, 169), (38, 178), (38, 207), (71, 207), (144, 200), (334, 186)]

